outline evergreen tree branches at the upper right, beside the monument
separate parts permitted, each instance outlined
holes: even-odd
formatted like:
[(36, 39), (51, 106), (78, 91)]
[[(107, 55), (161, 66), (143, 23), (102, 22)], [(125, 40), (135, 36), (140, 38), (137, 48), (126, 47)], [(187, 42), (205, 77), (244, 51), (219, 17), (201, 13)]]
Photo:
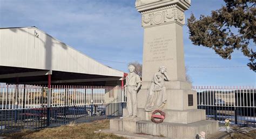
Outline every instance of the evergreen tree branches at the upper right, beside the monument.
[[(193, 14), (188, 19), (190, 40), (205, 46), (225, 59), (231, 59), (235, 49), (249, 58), (248, 67), (256, 72), (255, 0), (224, 0), (226, 5), (212, 11), (211, 16)], [(254, 43), (252, 47), (249, 43)]]

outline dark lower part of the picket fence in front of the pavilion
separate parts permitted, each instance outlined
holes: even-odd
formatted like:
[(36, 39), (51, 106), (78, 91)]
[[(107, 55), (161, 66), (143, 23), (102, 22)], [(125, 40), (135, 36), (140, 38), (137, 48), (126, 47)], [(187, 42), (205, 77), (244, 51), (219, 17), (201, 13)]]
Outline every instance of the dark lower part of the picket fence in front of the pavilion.
[(0, 111), (0, 133), (117, 118), (123, 115), (122, 109), (123, 103), (8, 109)]

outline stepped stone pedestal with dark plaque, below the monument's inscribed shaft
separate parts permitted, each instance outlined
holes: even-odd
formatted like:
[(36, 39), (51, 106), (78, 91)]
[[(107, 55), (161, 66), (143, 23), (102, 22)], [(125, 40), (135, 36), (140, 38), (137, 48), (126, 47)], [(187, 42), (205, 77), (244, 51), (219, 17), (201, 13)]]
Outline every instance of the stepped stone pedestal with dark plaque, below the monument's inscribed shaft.
[[(176, 84), (171, 86), (172, 83)], [(145, 87), (144, 83), (143, 87)], [(206, 136), (218, 131), (218, 121), (206, 120), (205, 110), (197, 109), (197, 92), (191, 90), (190, 83), (179, 81), (166, 82), (167, 101), (162, 110), (165, 112), (163, 123), (153, 123), (151, 121), (152, 112), (144, 111), (146, 104), (145, 96), (147, 96), (149, 90), (147, 87), (143, 87), (137, 94), (138, 98), (143, 98), (138, 99), (137, 116), (140, 120), (110, 120), (110, 127), (115, 126), (111, 129), (118, 129), (112, 131), (128, 131), (129, 133), (169, 138), (196, 138), (196, 135), (201, 131), (204, 131)], [(190, 88), (188, 89), (188, 87)], [(124, 108), (123, 117), (127, 115), (127, 109)], [(136, 126), (134, 126), (134, 122), (136, 122)], [(126, 124), (129, 125), (129, 130), (125, 129)], [(131, 127), (131, 125), (133, 126)]]

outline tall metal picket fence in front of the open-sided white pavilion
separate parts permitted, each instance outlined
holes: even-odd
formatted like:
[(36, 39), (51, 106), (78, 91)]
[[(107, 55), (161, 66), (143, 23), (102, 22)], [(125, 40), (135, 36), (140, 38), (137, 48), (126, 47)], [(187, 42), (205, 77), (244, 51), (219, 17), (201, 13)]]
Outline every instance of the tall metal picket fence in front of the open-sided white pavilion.
[(0, 86), (0, 134), (123, 115), (120, 86)]

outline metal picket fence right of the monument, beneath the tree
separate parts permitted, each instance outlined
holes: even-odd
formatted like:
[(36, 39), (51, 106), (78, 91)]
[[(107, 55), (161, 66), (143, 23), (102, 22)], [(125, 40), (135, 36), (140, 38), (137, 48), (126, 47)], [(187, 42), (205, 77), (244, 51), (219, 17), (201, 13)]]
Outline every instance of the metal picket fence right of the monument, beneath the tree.
[(206, 110), (206, 119), (225, 123), (256, 127), (256, 89), (251, 86), (199, 86), (197, 91), (199, 109)]

